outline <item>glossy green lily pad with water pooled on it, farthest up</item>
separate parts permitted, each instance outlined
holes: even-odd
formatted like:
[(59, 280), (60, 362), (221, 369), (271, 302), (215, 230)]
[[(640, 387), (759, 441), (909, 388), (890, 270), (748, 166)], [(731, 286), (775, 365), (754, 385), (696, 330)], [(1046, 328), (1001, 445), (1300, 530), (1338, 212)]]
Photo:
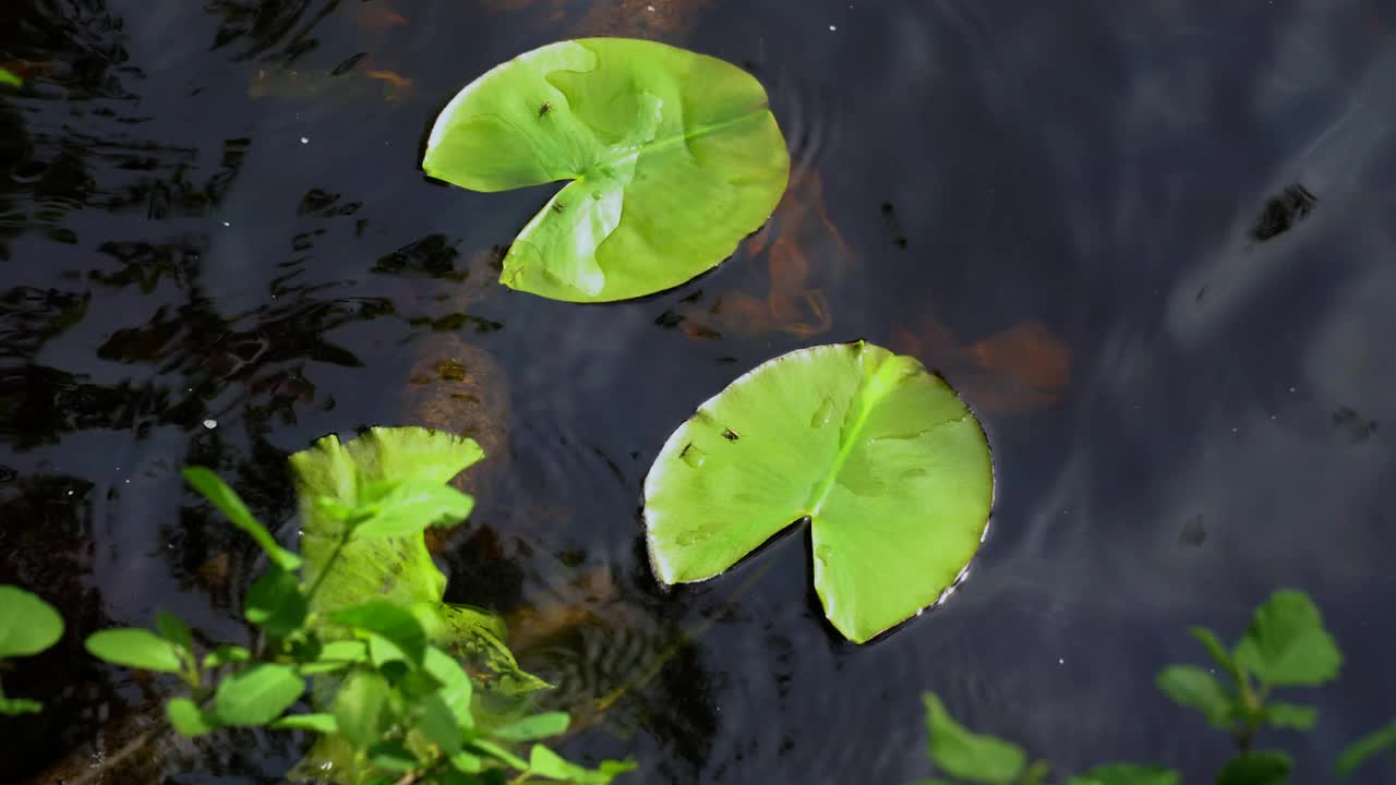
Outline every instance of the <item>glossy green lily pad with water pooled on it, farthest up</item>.
[(437, 119), (422, 168), (476, 191), (571, 180), (519, 232), (501, 281), (607, 302), (730, 256), (780, 201), (790, 154), (751, 74), (663, 43), (588, 38), (470, 82)]

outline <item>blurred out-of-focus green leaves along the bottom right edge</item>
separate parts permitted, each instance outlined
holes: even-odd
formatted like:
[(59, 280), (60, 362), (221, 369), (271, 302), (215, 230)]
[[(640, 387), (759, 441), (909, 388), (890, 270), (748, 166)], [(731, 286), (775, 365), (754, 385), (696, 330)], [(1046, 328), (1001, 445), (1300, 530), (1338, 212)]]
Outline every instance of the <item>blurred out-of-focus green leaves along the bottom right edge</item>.
[[(1227, 650), (1205, 627), (1192, 627), (1226, 679), (1196, 665), (1170, 665), (1157, 684), (1181, 705), (1206, 715), (1208, 722), (1231, 735), (1237, 754), (1216, 775), (1217, 785), (1283, 785), (1294, 760), (1282, 750), (1255, 750), (1255, 736), (1265, 728), (1308, 731), (1318, 710), (1270, 700), (1275, 687), (1316, 687), (1337, 676), (1343, 655), (1333, 636), (1323, 629), (1318, 608), (1308, 595), (1294, 589), (1275, 592), (1256, 609), (1245, 636)], [(927, 693), (926, 725), (930, 757), (940, 779), (926, 785), (974, 782), (980, 785), (1037, 785), (1051, 772), (1051, 764), (1027, 756), (1009, 742), (973, 733), (955, 722), (941, 700)], [(1396, 722), (1350, 744), (1337, 758), (1336, 770), (1350, 775), (1372, 756), (1396, 754)], [(1178, 785), (1182, 777), (1170, 768), (1111, 763), (1068, 777), (1068, 785)]]

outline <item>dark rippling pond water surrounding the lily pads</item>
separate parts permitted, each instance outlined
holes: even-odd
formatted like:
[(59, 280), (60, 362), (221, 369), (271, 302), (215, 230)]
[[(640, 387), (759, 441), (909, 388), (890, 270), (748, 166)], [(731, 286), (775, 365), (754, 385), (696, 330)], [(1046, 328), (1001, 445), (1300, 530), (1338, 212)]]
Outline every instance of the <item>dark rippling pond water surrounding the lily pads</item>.
[[(38, 775), (149, 684), (81, 638), (158, 609), (243, 634), (253, 549), (187, 492), (214, 467), (292, 538), (285, 457), (325, 433), (476, 434), (438, 556), (631, 782), (912, 782), (920, 693), (1058, 771), (1213, 771), (1224, 738), (1153, 675), (1280, 587), (1346, 651), (1323, 781), (1390, 718), (1396, 10), (970, 0), (8, 0), (0, 66), (0, 582), (68, 619), (6, 689)], [(768, 229), (637, 302), (497, 284), (547, 189), (426, 179), (463, 84), (535, 46), (651, 38), (768, 87), (794, 158)], [(990, 538), (946, 603), (857, 647), (803, 532), (662, 591), (641, 483), (702, 399), (866, 338), (976, 406)], [(614, 700), (610, 700), (614, 698)], [(585, 712), (584, 712), (585, 714)], [(274, 782), (285, 740), (170, 767)]]

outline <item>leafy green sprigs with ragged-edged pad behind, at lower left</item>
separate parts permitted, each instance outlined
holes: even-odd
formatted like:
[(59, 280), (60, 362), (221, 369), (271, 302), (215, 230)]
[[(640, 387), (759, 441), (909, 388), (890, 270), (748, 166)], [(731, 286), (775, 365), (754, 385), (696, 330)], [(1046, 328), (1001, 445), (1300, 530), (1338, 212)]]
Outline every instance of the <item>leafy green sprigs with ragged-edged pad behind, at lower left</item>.
[(177, 675), (184, 694), (165, 708), (184, 736), (244, 726), (314, 733), (293, 779), (610, 782), (634, 764), (589, 770), (540, 743), (567, 731), (567, 714), (480, 708), (490, 694), (546, 687), (519, 670), (497, 619), (441, 602), (445, 577), (426, 550), (426, 528), (470, 513), (472, 499), (447, 482), (482, 457), (469, 439), (424, 429), (317, 441), (292, 458), (304, 528), (299, 555), (216, 475), (186, 469), (190, 485), (268, 557), (243, 603), (261, 633), (255, 645), (200, 645), (184, 622), (161, 613), (155, 631), (103, 630), (87, 648), (117, 665)]

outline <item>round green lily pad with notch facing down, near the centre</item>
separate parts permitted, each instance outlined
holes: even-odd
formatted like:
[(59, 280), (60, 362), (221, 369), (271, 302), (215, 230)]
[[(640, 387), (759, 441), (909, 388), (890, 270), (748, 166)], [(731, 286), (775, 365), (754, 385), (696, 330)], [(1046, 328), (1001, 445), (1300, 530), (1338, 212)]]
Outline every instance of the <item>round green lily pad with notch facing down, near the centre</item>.
[(983, 541), (988, 441), (953, 390), (866, 342), (800, 349), (708, 399), (645, 479), (666, 584), (711, 578), (808, 518), (829, 622), (864, 643), (937, 602)]

